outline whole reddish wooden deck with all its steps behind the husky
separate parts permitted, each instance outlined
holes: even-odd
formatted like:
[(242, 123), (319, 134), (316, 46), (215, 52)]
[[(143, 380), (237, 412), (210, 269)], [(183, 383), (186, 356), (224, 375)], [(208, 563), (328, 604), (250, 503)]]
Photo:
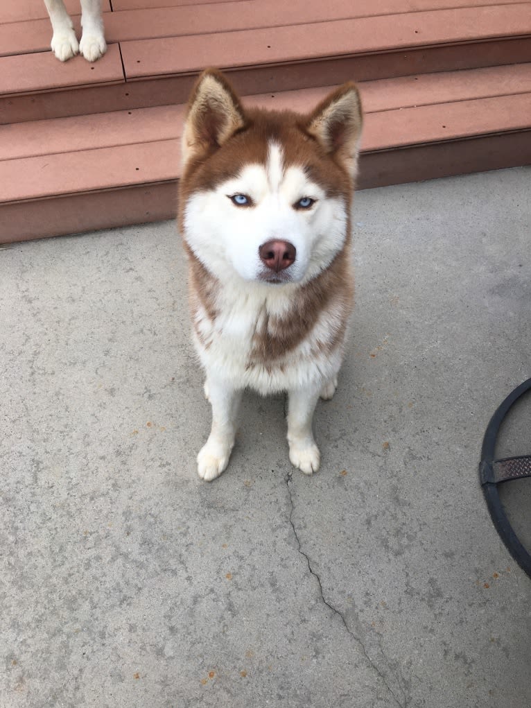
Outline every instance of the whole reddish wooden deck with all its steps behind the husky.
[(52, 56), (42, 0), (0, 6), (0, 242), (173, 216), (183, 103), (205, 66), (270, 108), (359, 81), (360, 188), (531, 162), (530, 2), (147, 4), (105, 0), (94, 64)]

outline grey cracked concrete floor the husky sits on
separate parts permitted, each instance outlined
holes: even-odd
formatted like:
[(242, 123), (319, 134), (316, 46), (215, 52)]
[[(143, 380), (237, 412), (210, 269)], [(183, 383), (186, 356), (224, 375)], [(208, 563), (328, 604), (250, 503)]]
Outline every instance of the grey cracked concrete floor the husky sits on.
[[(311, 478), (282, 397), (251, 394), (227, 472), (196, 476), (210, 411), (173, 222), (2, 249), (0, 706), (530, 706), (531, 581), (477, 474), (531, 376), (530, 185), (358, 194)], [(531, 452), (529, 428), (506, 447)]]

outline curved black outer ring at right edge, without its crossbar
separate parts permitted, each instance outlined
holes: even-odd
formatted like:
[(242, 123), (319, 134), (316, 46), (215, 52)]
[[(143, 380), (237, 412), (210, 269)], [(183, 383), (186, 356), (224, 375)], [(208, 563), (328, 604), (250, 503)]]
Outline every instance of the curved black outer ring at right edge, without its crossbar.
[(489, 513), (491, 515), (492, 522), (496, 531), (501, 536), (501, 539), (506, 547), (518, 563), (520, 568), (527, 573), (531, 578), (531, 555), (523, 547), (515, 534), (513, 527), (510, 525), (505, 510), (503, 509), (503, 504), (501, 503), (500, 494), (498, 492), (498, 484), (493, 477), (493, 462), (494, 453), (496, 450), (496, 440), (498, 438), (498, 433), (500, 430), (501, 423), (506, 417), (510, 410), (510, 407), (515, 404), (516, 401), (523, 396), (527, 391), (531, 389), (531, 379), (520, 384), (514, 391), (510, 392), (505, 401), (498, 406), (496, 413), (491, 418), (489, 425), (487, 426), (485, 437), (483, 438), (483, 445), (481, 447), (481, 462), (479, 463), (479, 481), (481, 487), (483, 488), (483, 493), (486, 501), (486, 505), (489, 508)]

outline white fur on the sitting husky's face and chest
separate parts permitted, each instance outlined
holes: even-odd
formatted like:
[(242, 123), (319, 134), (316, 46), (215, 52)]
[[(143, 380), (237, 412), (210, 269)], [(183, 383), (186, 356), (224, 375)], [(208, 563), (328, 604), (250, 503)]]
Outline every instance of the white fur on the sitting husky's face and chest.
[[(231, 195), (243, 195), (252, 206), (235, 207)], [(302, 198), (309, 198), (312, 208), (298, 209)], [(195, 346), (207, 377), (262, 394), (315, 387), (335, 378), (343, 347), (327, 345), (334, 333), (344, 330), (345, 310), (335, 306), (333, 297), (326, 308), (310, 313), (314, 325), (304, 338), (283, 353), (276, 338), (270, 358), (267, 347), (278, 335), (274, 328), (279, 320), (284, 333), (290, 333), (290, 322), (294, 332), (301, 329), (294, 304), (297, 288), (320, 277), (343, 248), (345, 198), (326, 195), (303, 166), (286, 165), (284, 150), (270, 141), (266, 164), (246, 164), (215, 188), (190, 195), (184, 224), (190, 249), (219, 285), (215, 316), (197, 305), (193, 313)], [(297, 253), (290, 280), (282, 285), (261, 280), (261, 245), (275, 239), (290, 241)], [(258, 357), (253, 355), (257, 341)]]

